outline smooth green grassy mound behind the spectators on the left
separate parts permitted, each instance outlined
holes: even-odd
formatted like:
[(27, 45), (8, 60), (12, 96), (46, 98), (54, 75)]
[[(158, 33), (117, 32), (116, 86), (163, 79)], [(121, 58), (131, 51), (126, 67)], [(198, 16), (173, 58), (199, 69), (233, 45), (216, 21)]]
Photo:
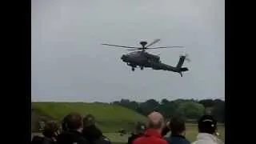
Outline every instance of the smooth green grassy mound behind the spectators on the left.
[(134, 122), (144, 121), (145, 117), (122, 106), (104, 103), (84, 102), (32, 102), (32, 109), (54, 120), (61, 120), (70, 112), (94, 114), (97, 125), (104, 133), (116, 132), (120, 128), (131, 130)]

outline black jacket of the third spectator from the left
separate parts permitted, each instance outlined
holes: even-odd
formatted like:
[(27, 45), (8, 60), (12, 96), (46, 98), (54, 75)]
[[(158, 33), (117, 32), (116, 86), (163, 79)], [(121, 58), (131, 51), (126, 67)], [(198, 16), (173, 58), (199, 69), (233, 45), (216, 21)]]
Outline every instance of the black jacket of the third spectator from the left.
[(102, 131), (98, 129), (97, 126), (86, 126), (83, 131), (82, 135), (86, 140), (90, 142), (90, 144), (110, 144), (110, 140), (106, 138)]

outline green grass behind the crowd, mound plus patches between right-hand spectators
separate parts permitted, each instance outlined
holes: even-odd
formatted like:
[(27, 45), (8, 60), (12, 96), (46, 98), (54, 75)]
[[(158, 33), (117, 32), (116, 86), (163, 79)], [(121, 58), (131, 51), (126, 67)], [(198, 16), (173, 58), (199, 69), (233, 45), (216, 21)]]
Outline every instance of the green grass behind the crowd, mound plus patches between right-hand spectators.
[[(82, 102), (32, 102), (32, 108), (38, 110), (43, 115), (48, 115), (54, 120), (62, 119), (70, 112), (81, 114), (94, 114), (98, 127), (110, 138), (114, 144), (124, 144), (129, 135), (120, 136), (116, 132), (120, 128), (128, 131), (133, 130), (134, 123), (144, 121), (146, 118), (132, 110), (122, 106), (112, 106), (101, 103)], [(225, 141), (225, 127), (218, 126), (220, 138)], [(186, 138), (193, 142), (196, 138), (197, 126), (186, 124)]]

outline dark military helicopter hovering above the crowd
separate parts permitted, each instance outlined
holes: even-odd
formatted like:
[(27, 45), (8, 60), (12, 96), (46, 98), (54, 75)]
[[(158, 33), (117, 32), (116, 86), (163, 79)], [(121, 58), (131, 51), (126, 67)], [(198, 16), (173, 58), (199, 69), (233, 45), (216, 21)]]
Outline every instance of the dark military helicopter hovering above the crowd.
[(156, 39), (148, 45), (147, 45), (147, 42), (145, 41), (139, 42), (139, 44), (142, 45), (142, 47), (118, 46), (118, 45), (110, 45), (110, 44), (102, 44), (102, 45), (122, 47), (122, 48), (126, 48), (126, 50), (134, 50), (133, 52), (130, 52), (128, 54), (123, 54), (121, 57), (123, 62), (126, 62), (128, 66), (131, 66), (132, 71), (134, 71), (137, 66), (139, 66), (141, 70), (143, 70), (144, 67), (150, 67), (153, 70), (173, 71), (180, 74), (182, 77), (182, 72), (188, 70), (188, 68), (182, 67), (182, 65), (185, 60), (190, 61), (190, 59), (186, 58), (187, 54), (180, 56), (177, 66), (169, 66), (169, 65), (166, 65), (165, 63), (162, 63), (158, 55), (149, 54), (146, 52), (146, 50), (166, 49), (166, 48), (183, 47), (183, 46), (165, 46), (165, 47), (151, 47), (151, 48), (149, 47), (159, 41), (160, 39)]

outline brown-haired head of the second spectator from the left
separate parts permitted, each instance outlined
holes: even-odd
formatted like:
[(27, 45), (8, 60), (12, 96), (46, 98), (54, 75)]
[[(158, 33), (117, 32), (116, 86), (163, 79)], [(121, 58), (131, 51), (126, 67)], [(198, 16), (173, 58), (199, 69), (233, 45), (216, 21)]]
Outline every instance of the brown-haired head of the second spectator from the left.
[(81, 114), (72, 112), (66, 115), (65, 121), (68, 130), (82, 131), (83, 123)]

